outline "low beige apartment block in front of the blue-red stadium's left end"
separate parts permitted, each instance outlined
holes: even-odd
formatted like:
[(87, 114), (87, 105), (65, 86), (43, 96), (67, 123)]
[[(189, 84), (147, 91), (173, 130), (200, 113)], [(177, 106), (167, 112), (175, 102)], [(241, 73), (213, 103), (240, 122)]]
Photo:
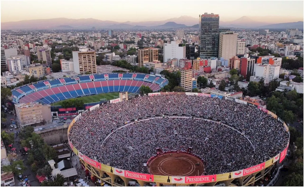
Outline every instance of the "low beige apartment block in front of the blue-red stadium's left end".
[(52, 121), (51, 106), (38, 102), (15, 104), (17, 122), (20, 127)]

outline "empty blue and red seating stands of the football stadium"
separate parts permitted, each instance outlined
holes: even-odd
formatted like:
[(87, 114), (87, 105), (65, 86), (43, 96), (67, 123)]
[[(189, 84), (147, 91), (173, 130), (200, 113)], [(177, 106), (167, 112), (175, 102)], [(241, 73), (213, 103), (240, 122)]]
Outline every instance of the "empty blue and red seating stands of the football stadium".
[[(146, 76), (151, 78), (144, 80)], [(167, 79), (157, 77), (157, 81), (153, 81), (155, 78), (154, 75), (143, 73), (109, 73), (44, 80), (13, 89), (12, 99), (15, 103), (36, 101), (50, 104), (59, 100), (108, 92), (139, 93), (142, 85), (157, 91), (168, 84)]]

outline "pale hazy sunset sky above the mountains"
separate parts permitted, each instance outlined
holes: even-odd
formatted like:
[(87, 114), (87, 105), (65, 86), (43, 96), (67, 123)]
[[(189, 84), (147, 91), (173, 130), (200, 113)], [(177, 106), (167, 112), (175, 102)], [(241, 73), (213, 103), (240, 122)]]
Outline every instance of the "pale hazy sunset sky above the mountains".
[(63, 17), (117, 22), (159, 21), (181, 15), (198, 18), (204, 12), (219, 14), (221, 21), (232, 21), (244, 15), (271, 16), (278, 22), (282, 17), (291, 22), (303, 21), (303, 1), (1, 0), (1, 22)]

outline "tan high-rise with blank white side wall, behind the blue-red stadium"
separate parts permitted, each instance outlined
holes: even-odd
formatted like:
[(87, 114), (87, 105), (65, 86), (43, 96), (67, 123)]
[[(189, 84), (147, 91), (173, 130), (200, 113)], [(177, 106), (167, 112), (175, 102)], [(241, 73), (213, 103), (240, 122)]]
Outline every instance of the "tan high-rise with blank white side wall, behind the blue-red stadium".
[(73, 51), (73, 63), (75, 73), (97, 73), (95, 51)]

